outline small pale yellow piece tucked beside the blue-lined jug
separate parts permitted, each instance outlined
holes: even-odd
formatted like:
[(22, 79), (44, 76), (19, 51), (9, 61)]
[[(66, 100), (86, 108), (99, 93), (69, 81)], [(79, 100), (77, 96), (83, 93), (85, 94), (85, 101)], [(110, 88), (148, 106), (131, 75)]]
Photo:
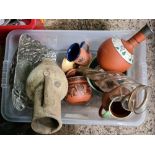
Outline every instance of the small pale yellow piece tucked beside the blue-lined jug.
[(64, 72), (74, 68), (74, 61), (68, 61), (66, 58), (63, 59), (61, 68)]

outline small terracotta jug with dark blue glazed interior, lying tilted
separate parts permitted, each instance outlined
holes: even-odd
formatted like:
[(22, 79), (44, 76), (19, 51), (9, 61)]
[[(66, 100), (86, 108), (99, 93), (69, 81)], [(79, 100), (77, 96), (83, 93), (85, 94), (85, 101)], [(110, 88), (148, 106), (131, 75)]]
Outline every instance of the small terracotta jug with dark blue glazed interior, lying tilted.
[(89, 45), (84, 41), (80, 45), (78, 43), (72, 44), (67, 50), (67, 60), (74, 61), (79, 65), (88, 65), (92, 59)]

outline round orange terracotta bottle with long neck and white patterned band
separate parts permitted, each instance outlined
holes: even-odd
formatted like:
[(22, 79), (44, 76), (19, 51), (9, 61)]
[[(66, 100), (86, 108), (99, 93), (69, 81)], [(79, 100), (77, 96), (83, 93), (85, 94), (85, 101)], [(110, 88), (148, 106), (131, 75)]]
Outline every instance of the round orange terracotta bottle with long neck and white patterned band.
[(133, 63), (134, 48), (152, 33), (149, 26), (145, 25), (127, 41), (109, 38), (101, 44), (97, 52), (100, 67), (107, 71), (125, 72)]

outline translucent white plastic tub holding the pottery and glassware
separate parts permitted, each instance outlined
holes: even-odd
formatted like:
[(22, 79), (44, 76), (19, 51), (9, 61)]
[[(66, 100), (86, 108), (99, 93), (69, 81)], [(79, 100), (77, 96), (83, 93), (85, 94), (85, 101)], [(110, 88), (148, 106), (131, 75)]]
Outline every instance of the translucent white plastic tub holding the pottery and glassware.
[[(57, 62), (60, 64), (66, 49), (74, 42), (89, 41), (90, 50), (95, 54), (99, 45), (109, 37), (128, 39), (134, 34), (133, 31), (66, 31), (66, 30), (15, 30), (8, 34), (6, 39), (5, 58), (2, 73), (2, 116), (12, 122), (31, 122), (33, 109), (26, 108), (24, 111), (14, 109), (9, 86), (9, 73), (13, 56), (17, 50), (19, 37), (22, 33), (29, 34), (33, 39), (39, 40), (48, 48), (57, 51)], [(137, 82), (147, 84), (146, 42), (144, 41), (135, 49), (135, 58), (128, 76)], [(102, 119), (98, 115), (101, 97), (94, 94), (88, 105), (71, 106), (62, 102), (62, 121), (64, 124), (85, 125), (123, 125), (138, 126), (146, 117), (146, 112), (133, 115), (128, 120)]]

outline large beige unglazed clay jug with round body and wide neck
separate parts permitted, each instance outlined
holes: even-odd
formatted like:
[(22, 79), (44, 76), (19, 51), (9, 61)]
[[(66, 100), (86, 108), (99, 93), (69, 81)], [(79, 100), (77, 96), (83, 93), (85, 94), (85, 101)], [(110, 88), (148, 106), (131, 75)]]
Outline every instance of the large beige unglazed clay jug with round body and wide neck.
[(61, 100), (68, 91), (68, 81), (56, 62), (44, 58), (27, 78), (26, 93), (34, 103), (31, 127), (40, 134), (60, 130)]

